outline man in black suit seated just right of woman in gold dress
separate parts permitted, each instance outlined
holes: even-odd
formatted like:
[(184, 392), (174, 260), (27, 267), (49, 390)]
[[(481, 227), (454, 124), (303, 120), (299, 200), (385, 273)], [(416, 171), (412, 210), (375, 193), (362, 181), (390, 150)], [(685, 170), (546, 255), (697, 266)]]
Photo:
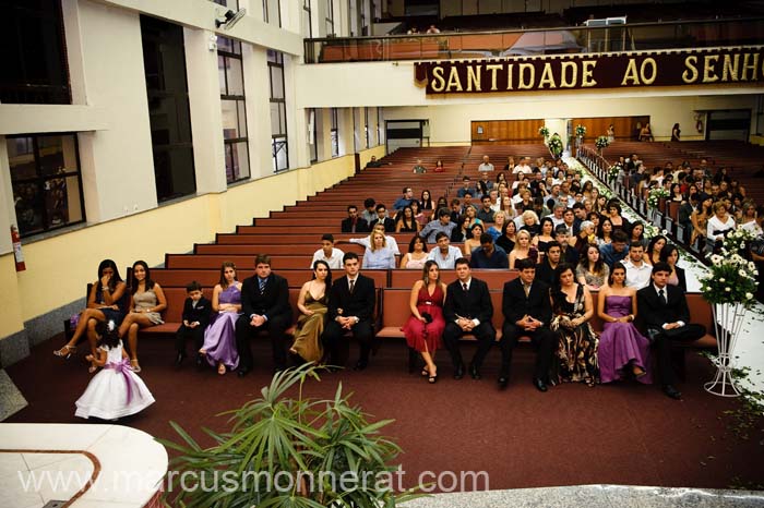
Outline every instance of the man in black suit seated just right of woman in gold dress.
[(350, 331), (361, 348), (354, 371), (362, 371), (369, 365), (369, 352), (374, 338), (374, 280), (359, 274), (361, 265), (355, 252), (345, 253), (343, 266), (345, 276), (332, 283), (329, 322), (321, 340), (330, 351), (330, 364), (344, 365), (349, 346), (343, 339)]

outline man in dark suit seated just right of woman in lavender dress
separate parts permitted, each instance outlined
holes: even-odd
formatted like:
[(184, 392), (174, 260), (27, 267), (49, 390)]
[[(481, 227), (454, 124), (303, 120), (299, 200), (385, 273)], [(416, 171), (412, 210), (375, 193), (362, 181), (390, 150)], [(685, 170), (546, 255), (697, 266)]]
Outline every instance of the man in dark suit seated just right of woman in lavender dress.
[(286, 368), (285, 331), (291, 325), (289, 287), (284, 277), (271, 271), (271, 256), (258, 254), (254, 275), (241, 285), (241, 316), (236, 322), (239, 377), (252, 370), (249, 338), (267, 330), (273, 348), (274, 372)]

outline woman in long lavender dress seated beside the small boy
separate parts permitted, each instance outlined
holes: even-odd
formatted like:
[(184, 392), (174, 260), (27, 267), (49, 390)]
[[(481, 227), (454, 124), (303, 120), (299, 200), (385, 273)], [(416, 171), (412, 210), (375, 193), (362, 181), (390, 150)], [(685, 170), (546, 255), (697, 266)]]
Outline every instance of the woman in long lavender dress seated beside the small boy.
[(217, 365), (217, 373), (224, 375), (226, 368), (232, 371), (239, 366), (236, 319), (241, 313), (241, 282), (236, 278), (236, 265), (231, 262), (224, 262), (220, 267), (220, 281), (212, 293), (212, 310), (214, 313), (204, 330), (204, 344), (199, 354), (206, 356), (210, 365)]

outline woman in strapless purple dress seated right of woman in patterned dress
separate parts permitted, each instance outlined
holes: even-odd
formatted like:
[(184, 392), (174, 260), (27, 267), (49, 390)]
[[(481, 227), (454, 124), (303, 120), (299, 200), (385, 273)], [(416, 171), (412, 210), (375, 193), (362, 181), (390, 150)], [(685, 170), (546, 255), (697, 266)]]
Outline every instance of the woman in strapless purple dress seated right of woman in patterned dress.
[(649, 341), (634, 326), (636, 292), (624, 286), (626, 269), (616, 263), (608, 286), (599, 289), (597, 314), (605, 322), (599, 336), (599, 376), (602, 383), (633, 374), (640, 383), (652, 383), (647, 372)]

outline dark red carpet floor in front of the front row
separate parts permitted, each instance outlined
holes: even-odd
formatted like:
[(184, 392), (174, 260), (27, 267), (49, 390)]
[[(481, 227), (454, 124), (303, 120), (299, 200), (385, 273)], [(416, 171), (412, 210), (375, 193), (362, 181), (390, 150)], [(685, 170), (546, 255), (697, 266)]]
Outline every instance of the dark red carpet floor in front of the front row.
[[(79, 423), (74, 401), (89, 375), (80, 354), (63, 361), (51, 354), (62, 340), (36, 347), (8, 373), (29, 402), (10, 422)], [(351, 358), (355, 361), (357, 347)], [(471, 356), (469, 346), (465, 359)], [(154, 436), (176, 438), (169, 420), (196, 438), (201, 426), (225, 427), (216, 413), (255, 398), (270, 380), (270, 344), (254, 344), (255, 371), (243, 379), (198, 372), (187, 360), (176, 371), (170, 340), (140, 343), (141, 377), (157, 402), (123, 422)], [(499, 351), (493, 349), (484, 379), (451, 378), (447, 353), (439, 352), (440, 382), (430, 386), (406, 370), (403, 342), (390, 341), (363, 373), (324, 374), (308, 394), (333, 397), (342, 380), (353, 401), (378, 419), (395, 419), (386, 434), (404, 453), (404, 485), (422, 471), (487, 471), (490, 488), (612, 483), (671, 487), (725, 488), (764, 484), (762, 428), (741, 439), (731, 418), (723, 414), (740, 403), (706, 394), (712, 375), (707, 360), (688, 356), (688, 379), (678, 385), (684, 400), (665, 397), (657, 386), (635, 383), (597, 386), (563, 385), (540, 394), (530, 385), (533, 353), (515, 353), (510, 387), (500, 392), (496, 377)], [(204, 439), (202, 438), (204, 443)], [(431, 479), (429, 479), (431, 480)], [(447, 482), (446, 482), (447, 484)]]

